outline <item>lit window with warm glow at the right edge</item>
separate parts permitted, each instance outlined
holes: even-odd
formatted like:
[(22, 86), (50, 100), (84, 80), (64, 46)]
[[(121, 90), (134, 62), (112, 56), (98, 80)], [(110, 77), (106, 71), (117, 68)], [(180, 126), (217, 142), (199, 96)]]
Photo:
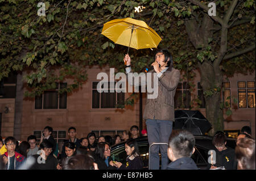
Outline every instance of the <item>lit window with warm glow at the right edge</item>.
[(238, 107), (255, 108), (255, 81), (241, 81), (238, 87)]

